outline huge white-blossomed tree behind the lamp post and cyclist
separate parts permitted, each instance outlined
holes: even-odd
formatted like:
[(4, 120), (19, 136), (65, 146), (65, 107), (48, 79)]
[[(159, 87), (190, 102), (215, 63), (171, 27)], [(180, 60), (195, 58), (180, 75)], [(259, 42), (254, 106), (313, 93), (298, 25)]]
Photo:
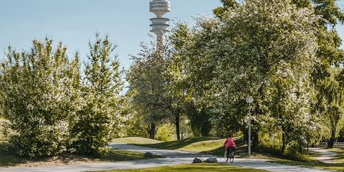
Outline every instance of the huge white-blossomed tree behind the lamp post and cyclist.
[[(288, 135), (283, 145), (305, 136), (301, 126), (314, 127), (308, 122), (313, 120), (310, 72), (317, 62), (314, 25), (319, 17), (291, 1), (232, 5), (218, 19), (200, 19), (184, 51), (197, 102), (211, 107), (210, 120), (222, 132), (246, 131), (244, 99), (254, 96), (253, 148), (259, 131), (271, 126), (275, 133)], [(283, 128), (291, 123), (293, 129)], [(297, 145), (300, 140), (304, 143), (297, 138)]]

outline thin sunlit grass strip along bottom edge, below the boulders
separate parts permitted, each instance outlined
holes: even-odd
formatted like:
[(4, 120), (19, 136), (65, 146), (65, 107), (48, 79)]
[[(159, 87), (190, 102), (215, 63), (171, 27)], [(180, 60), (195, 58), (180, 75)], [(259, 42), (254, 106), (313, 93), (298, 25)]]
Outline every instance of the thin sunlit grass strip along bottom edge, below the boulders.
[(183, 171), (183, 172), (189, 172), (189, 171), (231, 171), (231, 172), (263, 172), (264, 170), (258, 170), (258, 169), (245, 169), (239, 166), (230, 166), (230, 165), (224, 165), (224, 164), (180, 164), (180, 165), (173, 165), (173, 166), (160, 166), (155, 168), (149, 168), (149, 169), (132, 169), (132, 170), (113, 170), (116, 171)]

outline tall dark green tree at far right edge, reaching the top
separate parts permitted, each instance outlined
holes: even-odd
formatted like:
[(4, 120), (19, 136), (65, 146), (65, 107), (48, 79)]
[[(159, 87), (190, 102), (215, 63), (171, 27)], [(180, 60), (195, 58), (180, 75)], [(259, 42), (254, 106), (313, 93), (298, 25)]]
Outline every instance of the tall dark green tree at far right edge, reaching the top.
[[(336, 32), (335, 26), (338, 23), (343, 23), (344, 13), (336, 4), (336, 1), (324, 1), (324, 0), (294, 0), (292, 3), (296, 4), (299, 8), (310, 8), (314, 10), (315, 14), (319, 14), (322, 18), (319, 21), (319, 25), (316, 25), (318, 30), (317, 42), (319, 50), (317, 56), (321, 59), (316, 64), (313, 71), (313, 82), (316, 88), (318, 100), (314, 103), (314, 113), (319, 113), (325, 120), (328, 127), (332, 128), (332, 131), (338, 125), (338, 120), (326, 109), (332, 108), (332, 95), (330, 91), (336, 85), (336, 77), (334, 76), (333, 68), (343, 63), (344, 52), (341, 50), (341, 38)], [(329, 83), (329, 80), (332, 80)], [(329, 92), (326, 92), (329, 91)], [(327, 100), (324, 100), (327, 99)], [(340, 107), (338, 107), (340, 109)], [(339, 112), (338, 112), (339, 113)], [(340, 114), (336, 114), (340, 116)], [(328, 146), (333, 147), (334, 136), (336, 132), (331, 132), (328, 136), (325, 136), (328, 140)]]

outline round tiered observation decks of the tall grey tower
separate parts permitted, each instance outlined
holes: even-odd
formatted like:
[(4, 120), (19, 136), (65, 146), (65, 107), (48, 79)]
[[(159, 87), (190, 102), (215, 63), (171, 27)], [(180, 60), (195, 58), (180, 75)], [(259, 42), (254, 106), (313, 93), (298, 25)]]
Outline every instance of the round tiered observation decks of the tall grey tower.
[(162, 36), (169, 32), (169, 19), (164, 18), (164, 14), (171, 11), (171, 3), (167, 0), (152, 0), (149, 2), (149, 11), (156, 17), (151, 19), (151, 32), (156, 34), (157, 40), (161, 41)]

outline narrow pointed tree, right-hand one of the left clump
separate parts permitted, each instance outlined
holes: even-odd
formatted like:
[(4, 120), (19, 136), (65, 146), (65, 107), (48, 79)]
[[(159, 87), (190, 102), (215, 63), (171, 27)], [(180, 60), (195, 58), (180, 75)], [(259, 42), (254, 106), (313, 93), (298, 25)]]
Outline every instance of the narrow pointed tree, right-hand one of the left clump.
[(122, 70), (117, 56), (116, 45), (109, 36), (89, 42), (88, 62), (85, 64), (85, 79), (81, 85), (83, 104), (76, 114), (72, 129), (72, 147), (78, 153), (95, 154), (103, 151), (118, 133), (122, 120), (123, 103)]

